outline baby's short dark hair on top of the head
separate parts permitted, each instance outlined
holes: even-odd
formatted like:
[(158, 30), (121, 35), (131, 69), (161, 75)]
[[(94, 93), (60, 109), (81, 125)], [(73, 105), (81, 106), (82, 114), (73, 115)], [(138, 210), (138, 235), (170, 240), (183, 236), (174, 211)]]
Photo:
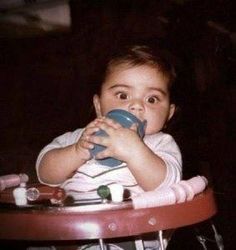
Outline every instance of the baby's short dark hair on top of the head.
[(173, 82), (176, 79), (175, 68), (170, 63), (165, 51), (160, 49), (154, 50), (146, 45), (134, 45), (123, 47), (110, 56), (110, 59), (106, 63), (106, 68), (103, 70), (102, 82), (120, 64), (126, 64), (131, 67), (149, 65), (156, 68), (168, 79), (169, 90), (171, 90)]

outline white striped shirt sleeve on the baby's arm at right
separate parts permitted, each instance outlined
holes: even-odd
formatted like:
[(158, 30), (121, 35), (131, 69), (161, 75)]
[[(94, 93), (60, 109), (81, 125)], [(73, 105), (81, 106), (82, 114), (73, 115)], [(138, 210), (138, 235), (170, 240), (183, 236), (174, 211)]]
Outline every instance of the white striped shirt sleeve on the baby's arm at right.
[(182, 156), (174, 138), (160, 132), (145, 142), (166, 164), (166, 177), (157, 189), (179, 182), (182, 178)]

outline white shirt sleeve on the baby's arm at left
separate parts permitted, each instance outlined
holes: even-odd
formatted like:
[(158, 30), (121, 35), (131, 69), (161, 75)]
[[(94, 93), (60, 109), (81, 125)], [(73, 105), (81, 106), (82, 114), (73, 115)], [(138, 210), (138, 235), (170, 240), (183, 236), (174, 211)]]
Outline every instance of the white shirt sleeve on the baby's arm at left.
[[(39, 182), (42, 184), (47, 184), (44, 183), (39, 176), (39, 164), (43, 158), (43, 156), (50, 150), (52, 149), (57, 149), (57, 148), (64, 148), (69, 145), (74, 144), (78, 139), (80, 138), (81, 134), (83, 132), (83, 129), (77, 129), (74, 132), (67, 132), (63, 135), (60, 135), (56, 137), (51, 143), (49, 143), (47, 146), (45, 146), (39, 153), (37, 160), (36, 160), (36, 173)], [(48, 184), (47, 184), (48, 185)], [(51, 186), (57, 186), (57, 185), (51, 185)]]

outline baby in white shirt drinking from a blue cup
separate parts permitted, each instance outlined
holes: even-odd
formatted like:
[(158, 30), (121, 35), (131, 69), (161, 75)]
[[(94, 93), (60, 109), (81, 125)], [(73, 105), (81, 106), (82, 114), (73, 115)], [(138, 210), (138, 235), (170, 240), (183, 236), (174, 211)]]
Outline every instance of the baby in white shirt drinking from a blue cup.
[[(162, 53), (147, 46), (128, 47), (114, 55), (100, 91), (93, 97), (97, 118), (42, 149), (36, 163), (40, 182), (61, 186), (77, 197), (89, 195), (100, 185), (118, 183), (133, 196), (180, 181), (179, 147), (172, 136), (162, 132), (175, 113), (170, 98), (175, 77), (173, 66)], [(107, 118), (113, 109), (146, 121), (145, 136), (138, 135), (137, 124), (125, 128)], [(108, 136), (97, 136), (99, 130)], [(91, 149), (96, 144), (105, 149), (94, 158)], [(97, 161), (108, 157), (121, 164), (109, 167)]]

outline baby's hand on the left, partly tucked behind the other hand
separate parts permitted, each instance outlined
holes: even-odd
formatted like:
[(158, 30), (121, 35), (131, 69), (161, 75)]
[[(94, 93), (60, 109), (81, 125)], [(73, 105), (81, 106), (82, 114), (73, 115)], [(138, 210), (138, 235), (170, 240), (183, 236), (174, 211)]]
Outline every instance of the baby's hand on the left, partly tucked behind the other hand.
[(99, 130), (97, 124), (100, 120), (101, 119), (97, 118), (94, 121), (90, 122), (84, 128), (84, 132), (82, 133), (78, 142), (75, 144), (76, 153), (80, 154), (81, 158), (85, 161), (91, 158), (89, 150), (94, 148), (94, 144), (91, 142), (90, 137), (92, 134), (96, 133)]

